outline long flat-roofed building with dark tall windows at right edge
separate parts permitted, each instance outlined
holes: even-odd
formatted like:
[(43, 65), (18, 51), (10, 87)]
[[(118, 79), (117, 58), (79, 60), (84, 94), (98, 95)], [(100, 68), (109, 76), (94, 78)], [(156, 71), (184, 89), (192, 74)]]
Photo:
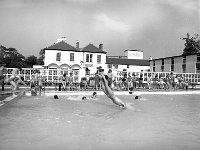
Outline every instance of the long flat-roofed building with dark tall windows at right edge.
[(200, 54), (171, 56), (149, 61), (151, 72), (200, 73)]

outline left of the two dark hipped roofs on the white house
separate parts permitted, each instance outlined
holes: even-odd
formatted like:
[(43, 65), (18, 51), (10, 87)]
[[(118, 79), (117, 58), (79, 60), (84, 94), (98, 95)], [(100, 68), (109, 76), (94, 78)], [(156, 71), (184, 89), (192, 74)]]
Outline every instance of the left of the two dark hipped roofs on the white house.
[(61, 50), (61, 51), (79, 51), (75, 47), (69, 45), (68, 43), (66, 43), (64, 41), (53, 44), (45, 49), (46, 50)]

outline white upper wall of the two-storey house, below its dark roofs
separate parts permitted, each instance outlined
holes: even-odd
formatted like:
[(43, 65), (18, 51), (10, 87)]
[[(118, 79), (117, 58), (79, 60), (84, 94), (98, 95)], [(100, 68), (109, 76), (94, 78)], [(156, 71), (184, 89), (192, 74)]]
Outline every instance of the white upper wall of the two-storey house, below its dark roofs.
[[(60, 53), (60, 61), (56, 60), (57, 53)], [(70, 53), (74, 54), (74, 61), (70, 61)], [(92, 62), (86, 62), (86, 55), (92, 54)], [(101, 56), (101, 62), (97, 63), (97, 55)], [(44, 66), (48, 66), (49, 69), (77, 69), (74, 66), (80, 66), (80, 68), (88, 68), (91, 73), (96, 72), (96, 68), (102, 66), (106, 68), (106, 54), (104, 53), (89, 53), (89, 52), (76, 52), (76, 51), (60, 51), (60, 50), (45, 50)]]

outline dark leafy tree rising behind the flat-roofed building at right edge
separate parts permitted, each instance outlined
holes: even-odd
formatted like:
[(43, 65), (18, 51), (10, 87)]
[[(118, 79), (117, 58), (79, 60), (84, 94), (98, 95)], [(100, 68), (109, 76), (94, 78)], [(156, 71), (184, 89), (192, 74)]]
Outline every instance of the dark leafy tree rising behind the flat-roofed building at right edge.
[(198, 34), (195, 34), (194, 37), (190, 37), (190, 34), (187, 33), (187, 36), (182, 38), (182, 40), (185, 40), (183, 55), (200, 53), (200, 39)]

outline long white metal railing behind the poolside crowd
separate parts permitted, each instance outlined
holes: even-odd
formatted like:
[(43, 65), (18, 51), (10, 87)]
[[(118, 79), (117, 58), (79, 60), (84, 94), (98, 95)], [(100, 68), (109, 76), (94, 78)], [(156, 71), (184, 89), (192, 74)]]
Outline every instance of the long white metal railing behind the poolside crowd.
[[(7, 74), (6, 77), (10, 77), (12, 75), (12, 71), (14, 68), (7, 68)], [(79, 82), (82, 78), (80, 76), (79, 70), (66, 70), (66, 69), (35, 69), (35, 68), (22, 68), (21, 71), (19, 71), (19, 74), (21, 77), (24, 78), (25, 81), (30, 81), (31, 76), (34, 74), (41, 74), (47, 82), (57, 82), (59, 77), (62, 76), (64, 73), (69, 77), (70, 73), (73, 77), (73, 82)], [(147, 78), (149, 76), (152, 76), (153, 78), (157, 77), (164, 77), (170, 75), (170, 72), (127, 72), (127, 71), (117, 71), (116, 73), (116, 79), (119, 81), (124, 77), (126, 74), (127, 77), (133, 77), (133, 74), (137, 78), (141, 78), (144, 81), (147, 81)], [(200, 73), (173, 73), (175, 75), (179, 75), (183, 78), (184, 81), (189, 83), (198, 83), (200, 84)], [(94, 74), (90, 74), (89, 77), (94, 77)], [(85, 77), (85, 76), (84, 76)]]

